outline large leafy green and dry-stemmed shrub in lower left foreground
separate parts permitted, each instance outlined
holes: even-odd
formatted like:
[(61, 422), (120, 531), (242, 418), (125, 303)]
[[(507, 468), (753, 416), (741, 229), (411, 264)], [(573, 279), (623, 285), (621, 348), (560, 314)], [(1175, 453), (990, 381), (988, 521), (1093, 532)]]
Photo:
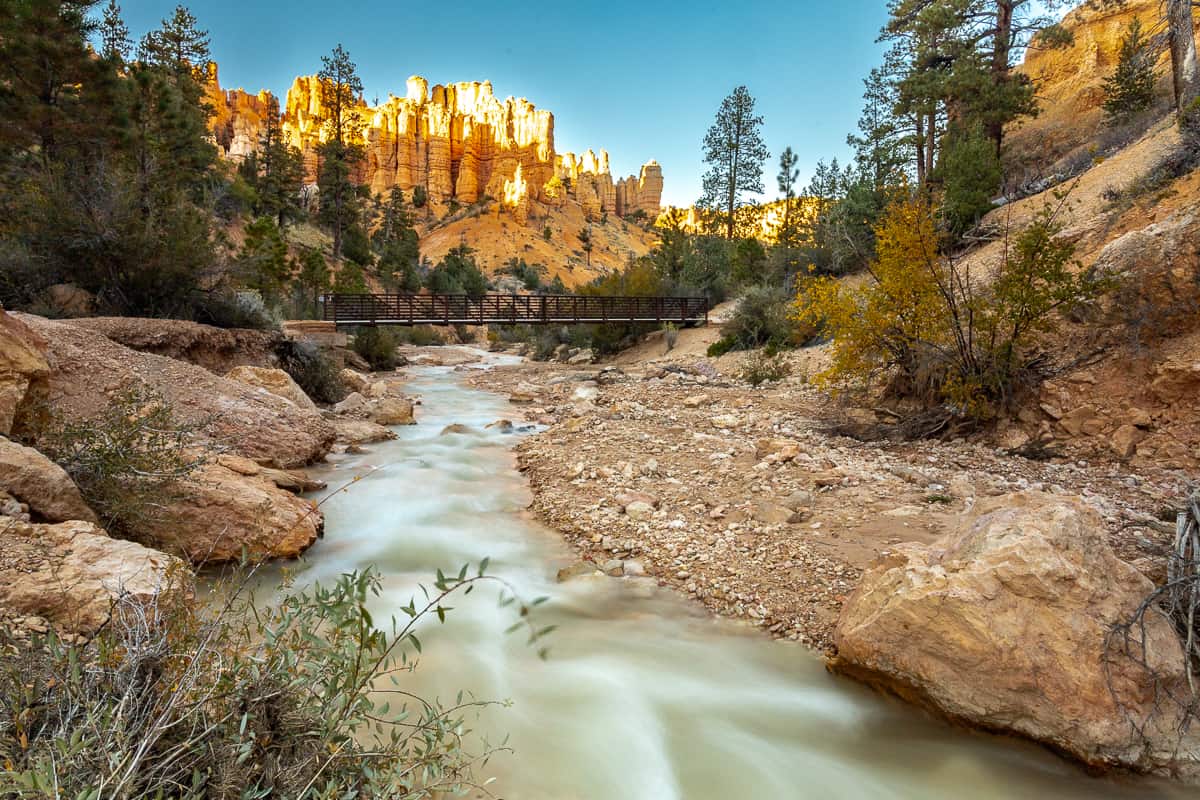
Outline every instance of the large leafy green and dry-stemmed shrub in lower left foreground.
[[(415, 628), (448, 597), (498, 582), (438, 573), (422, 604), (376, 627), (371, 571), (253, 603), (251, 576), (205, 606), (120, 599), (85, 644), (0, 648), (0, 793), (29, 798), (418, 798), (474, 793), (494, 748), (464, 746), (490, 705), (404, 691)], [(502, 583), (502, 593), (505, 591)], [(421, 595), (418, 595), (421, 596)], [(536, 603), (534, 603), (536, 604)], [(532, 642), (532, 604), (515, 628)], [(422, 631), (424, 633), (424, 631)], [(0, 633), (0, 638), (5, 638)], [(545, 652), (545, 650), (542, 650)], [(97, 787), (104, 787), (100, 794)]]

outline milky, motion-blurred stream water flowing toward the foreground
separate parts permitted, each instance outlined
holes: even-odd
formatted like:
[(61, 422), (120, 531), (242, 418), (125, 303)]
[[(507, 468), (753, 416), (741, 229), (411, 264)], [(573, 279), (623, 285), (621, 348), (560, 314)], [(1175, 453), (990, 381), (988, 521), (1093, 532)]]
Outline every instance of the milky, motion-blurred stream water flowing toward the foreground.
[[(800, 645), (714, 620), (695, 603), (630, 579), (554, 581), (571, 553), (522, 513), (516, 437), (484, 426), (508, 402), (449, 368), (413, 371), (420, 425), (347, 456), (331, 487), (325, 539), (299, 581), (332, 582), (374, 565), (385, 590), (372, 612), (401, 615), (436, 570), (491, 559), (526, 599), (548, 595), (550, 656), (505, 634), (511, 608), (480, 587), (446, 624), (422, 630), (425, 655), (404, 688), (508, 699), (482, 727), (512, 754), (487, 766), (509, 800), (778, 800), (792, 798), (1147, 798), (1178, 789), (1116, 782), (1031, 745), (952, 728), (829, 675)], [(439, 435), (450, 423), (467, 434)], [(1182, 793), (1180, 794), (1182, 796)]]

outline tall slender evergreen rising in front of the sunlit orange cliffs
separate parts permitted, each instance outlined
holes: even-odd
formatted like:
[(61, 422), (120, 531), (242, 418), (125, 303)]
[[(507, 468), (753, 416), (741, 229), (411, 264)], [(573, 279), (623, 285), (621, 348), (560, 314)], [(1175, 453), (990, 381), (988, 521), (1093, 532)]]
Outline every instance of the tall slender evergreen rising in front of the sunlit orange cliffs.
[(353, 181), (362, 161), (358, 144), (359, 97), (362, 80), (350, 54), (338, 44), (322, 56), (317, 73), (320, 82), (320, 103), (325, 110), (328, 139), (318, 148), (317, 186), (320, 191), (320, 221), (334, 233), (334, 258), (342, 255), (342, 236), (359, 218), (358, 197)]

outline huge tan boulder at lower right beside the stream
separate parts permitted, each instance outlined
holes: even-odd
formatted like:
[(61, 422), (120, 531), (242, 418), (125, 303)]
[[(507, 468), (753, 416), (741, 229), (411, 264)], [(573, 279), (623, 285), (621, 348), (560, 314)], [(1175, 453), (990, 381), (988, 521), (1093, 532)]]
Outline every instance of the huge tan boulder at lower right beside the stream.
[(955, 533), (868, 570), (839, 618), (832, 666), (1088, 764), (1195, 772), (1200, 742), (1180, 742), (1177, 710), (1157, 705), (1187, 692), (1171, 625), (1152, 612), (1144, 642), (1132, 631), (1157, 680), (1109, 643), (1152, 589), (1081, 500), (992, 498)]

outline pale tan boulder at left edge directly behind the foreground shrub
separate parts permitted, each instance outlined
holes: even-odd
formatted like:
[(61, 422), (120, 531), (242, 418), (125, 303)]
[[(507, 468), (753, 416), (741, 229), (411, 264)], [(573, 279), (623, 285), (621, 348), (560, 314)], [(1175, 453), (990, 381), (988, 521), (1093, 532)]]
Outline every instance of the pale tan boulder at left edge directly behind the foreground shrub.
[(0, 609), (40, 616), (60, 632), (89, 634), (119, 597), (174, 601), (190, 589), (184, 564), (89, 522), (0, 525)]

